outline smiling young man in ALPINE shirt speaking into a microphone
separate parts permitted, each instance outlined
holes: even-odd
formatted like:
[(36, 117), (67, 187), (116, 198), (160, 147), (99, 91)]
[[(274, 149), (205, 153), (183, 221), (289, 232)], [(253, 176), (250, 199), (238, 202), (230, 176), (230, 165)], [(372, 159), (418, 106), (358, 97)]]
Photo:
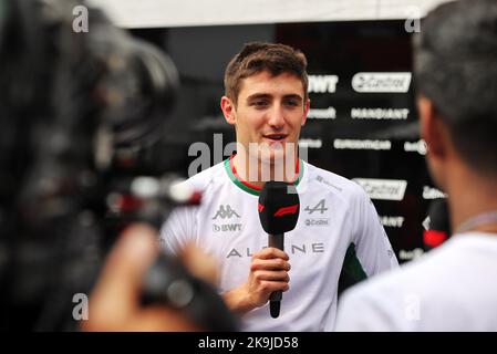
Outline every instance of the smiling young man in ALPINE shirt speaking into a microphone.
[[(297, 157), (310, 106), (306, 66), (301, 52), (269, 43), (249, 43), (230, 61), (221, 110), (235, 126), (237, 154), (188, 179), (203, 190), (201, 205), (178, 209), (162, 229), (166, 249), (194, 241), (219, 260), (219, 291), (248, 331), (331, 331), (342, 267), (359, 278), (397, 267), (365, 192)], [(270, 179), (299, 192), (286, 252), (267, 248), (259, 221), (258, 195)], [(281, 312), (272, 319), (267, 303), (278, 290)]]

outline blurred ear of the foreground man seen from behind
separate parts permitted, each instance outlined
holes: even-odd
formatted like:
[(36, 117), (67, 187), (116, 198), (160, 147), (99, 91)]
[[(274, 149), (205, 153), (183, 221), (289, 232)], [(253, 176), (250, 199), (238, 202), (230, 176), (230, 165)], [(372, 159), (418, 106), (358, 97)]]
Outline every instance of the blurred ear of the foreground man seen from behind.
[(421, 137), (428, 146), (432, 157), (441, 158), (446, 154), (448, 143), (444, 123), (439, 117), (433, 102), (421, 95), (417, 97), (417, 112), (420, 113)]

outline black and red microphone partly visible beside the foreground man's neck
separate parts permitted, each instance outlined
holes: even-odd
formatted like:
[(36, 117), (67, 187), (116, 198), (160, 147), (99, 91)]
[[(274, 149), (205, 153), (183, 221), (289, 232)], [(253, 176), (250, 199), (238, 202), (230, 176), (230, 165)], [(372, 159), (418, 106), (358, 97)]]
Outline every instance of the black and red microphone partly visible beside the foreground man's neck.
[(446, 198), (434, 199), (423, 222), (423, 243), (428, 251), (445, 242), (452, 233)]

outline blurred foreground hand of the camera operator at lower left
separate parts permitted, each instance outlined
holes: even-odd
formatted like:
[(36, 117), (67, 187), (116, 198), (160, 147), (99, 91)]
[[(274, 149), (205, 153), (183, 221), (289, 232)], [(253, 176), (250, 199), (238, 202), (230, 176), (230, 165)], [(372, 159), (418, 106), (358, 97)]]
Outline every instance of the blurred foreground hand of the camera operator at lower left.
[[(134, 225), (120, 237), (108, 254), (90, 296), (89, 320), (83, 331), (201, 331), (182, 312), (164, 305), (142, 306), (142, 279), (158, 254), (157, 233), (146, 225)], [(217, 267), (193, 246), (182, 259), (189, 271), (208, 282), (217, 279)]]

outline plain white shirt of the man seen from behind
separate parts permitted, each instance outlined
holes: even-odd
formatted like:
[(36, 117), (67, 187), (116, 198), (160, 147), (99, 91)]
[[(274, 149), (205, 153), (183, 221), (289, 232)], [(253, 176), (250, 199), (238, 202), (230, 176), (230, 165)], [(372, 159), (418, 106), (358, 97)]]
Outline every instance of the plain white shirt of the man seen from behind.
[(338, 331), (497, 331), (497, 235), (453, 236), (341, 298)]

